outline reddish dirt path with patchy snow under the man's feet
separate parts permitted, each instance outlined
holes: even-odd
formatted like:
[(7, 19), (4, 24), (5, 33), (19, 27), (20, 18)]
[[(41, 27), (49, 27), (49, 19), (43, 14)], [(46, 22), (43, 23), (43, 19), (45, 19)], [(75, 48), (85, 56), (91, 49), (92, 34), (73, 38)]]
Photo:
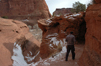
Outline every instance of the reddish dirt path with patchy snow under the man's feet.
[(83, 52), (84, 44), (75, 45), (75, 60), (72, 60), (72, 54), (70, 52), (68, 61), (65, 61), (66, 52), (57, 54), (54, 58), (47, 58), (40, 61), (36, 66), (79, 66), (77, 64), (82, 52)]

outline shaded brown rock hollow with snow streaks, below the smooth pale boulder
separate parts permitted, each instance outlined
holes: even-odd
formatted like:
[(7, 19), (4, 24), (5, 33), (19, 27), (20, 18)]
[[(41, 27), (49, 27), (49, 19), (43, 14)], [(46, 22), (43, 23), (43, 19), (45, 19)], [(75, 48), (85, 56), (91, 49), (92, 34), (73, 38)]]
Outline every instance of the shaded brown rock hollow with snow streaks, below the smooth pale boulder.
[(27, 39), (26, 37), (21, 37), (20, 39), (17, 39), (16, 44), (21, 45), (22, 54), (24, 56), (25, 61), (28, 64), (39, 61), (40, 51), (39, 51), (39, 46), (37, 44), (40, 43), (33, 36), (30, 37), (30, 39)]

